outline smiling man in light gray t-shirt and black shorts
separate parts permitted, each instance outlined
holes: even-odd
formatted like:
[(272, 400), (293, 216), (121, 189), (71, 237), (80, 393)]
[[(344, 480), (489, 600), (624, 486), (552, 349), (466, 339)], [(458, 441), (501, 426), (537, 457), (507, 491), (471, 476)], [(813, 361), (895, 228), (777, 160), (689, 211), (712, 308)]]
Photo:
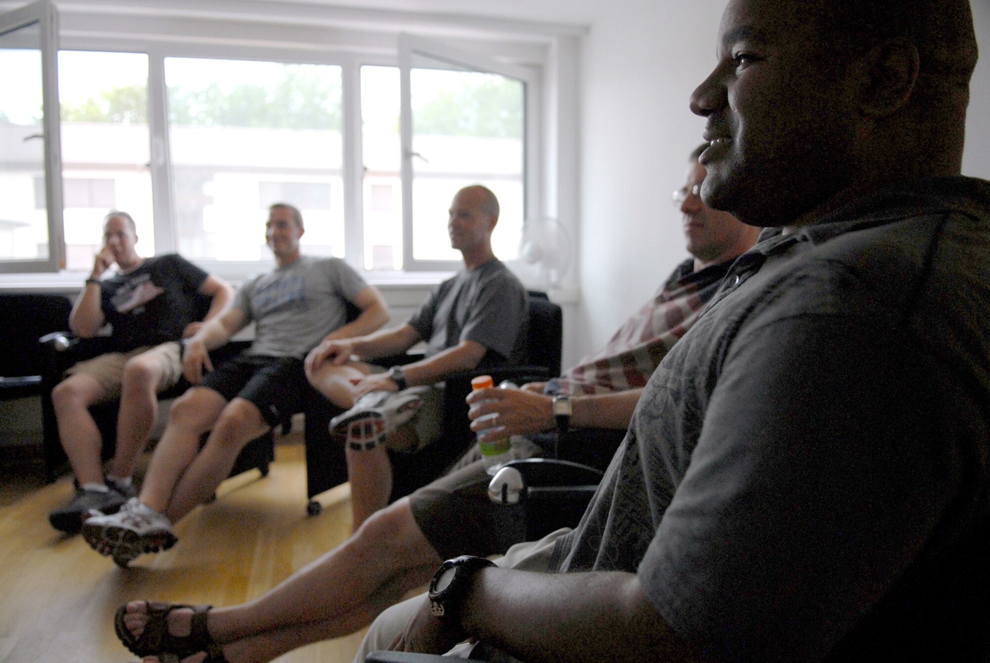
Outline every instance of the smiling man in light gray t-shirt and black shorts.
[[(343, 260), (300, 255), (304, 232), (296, 208), (271, 206), (265, 237), (275, 270), (247, 280), (231, 308), (186, 344), (184, 371), (195, 386), (172, 406), (141, 495), (119, 513), (83, 524), (86, 541), (118, 564), (171, 547), (177, 540), (171, 522), (213, 495), (244, 445), (301, 410), (310, 349), (388, 320), (381, 294)], [(349, 324), (347, 302), (361, 310)], [(250, 348), (214, 370), (208, 351), (251, 322)], [(200, 450), (200, 435), (211, 429)]]

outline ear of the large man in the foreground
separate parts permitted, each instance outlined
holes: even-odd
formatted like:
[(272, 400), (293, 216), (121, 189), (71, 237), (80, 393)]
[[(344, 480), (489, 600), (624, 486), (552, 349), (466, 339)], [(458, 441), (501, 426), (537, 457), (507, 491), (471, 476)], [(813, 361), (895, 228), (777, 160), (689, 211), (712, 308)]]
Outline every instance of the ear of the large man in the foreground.
[(902, 37), (881, 42), (869, 49), (863, 64), (863, 115), (885, 118), (907, 105), (921, 66), (918, 47), (911, 40)]

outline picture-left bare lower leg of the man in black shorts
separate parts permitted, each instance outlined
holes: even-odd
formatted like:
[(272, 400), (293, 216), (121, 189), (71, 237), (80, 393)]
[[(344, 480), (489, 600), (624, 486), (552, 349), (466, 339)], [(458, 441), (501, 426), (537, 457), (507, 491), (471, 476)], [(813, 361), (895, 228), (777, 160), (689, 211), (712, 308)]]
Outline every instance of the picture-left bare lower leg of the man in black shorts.
[(227, 399), (206, 387), (193, 387), (172, 404), (168, 426), (154, 448), (141, 501), (165, 513), (179, 479), (187, 472), (199, 450), (199, 437), (217, 422)]

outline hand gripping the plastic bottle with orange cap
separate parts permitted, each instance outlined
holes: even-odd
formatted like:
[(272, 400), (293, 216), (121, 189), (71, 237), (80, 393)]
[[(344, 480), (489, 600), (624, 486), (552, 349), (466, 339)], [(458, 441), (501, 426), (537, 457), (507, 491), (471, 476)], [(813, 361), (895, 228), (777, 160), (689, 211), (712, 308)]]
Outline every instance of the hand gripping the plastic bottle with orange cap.
[[(532, 435), (556, 426), (552, 411), (553, 399), (543, 394), (522, 389), (500, 389), (489, 387), (471, 392), (467, 396), (467, 417), (471, 420), (471, 430), (485, 434), (478, 435), (479, 442), (499, 439), (507, 435)], [(495, 414), (494, 419), (481, 419)]]

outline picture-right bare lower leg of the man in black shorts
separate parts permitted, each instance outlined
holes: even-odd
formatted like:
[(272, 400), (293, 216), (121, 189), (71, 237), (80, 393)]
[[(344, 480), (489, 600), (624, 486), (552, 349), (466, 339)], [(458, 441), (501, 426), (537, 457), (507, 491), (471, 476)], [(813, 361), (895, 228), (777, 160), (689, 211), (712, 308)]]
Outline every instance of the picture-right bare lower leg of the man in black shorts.
[(253, 403), (243, 398), (231, 401), (220, 413), (206, 446), (175, 486), (164, 512), (168, 520), (178, 521), (196, 505), (207, 502), (231, 473), (241, 449), (269, 428)]

